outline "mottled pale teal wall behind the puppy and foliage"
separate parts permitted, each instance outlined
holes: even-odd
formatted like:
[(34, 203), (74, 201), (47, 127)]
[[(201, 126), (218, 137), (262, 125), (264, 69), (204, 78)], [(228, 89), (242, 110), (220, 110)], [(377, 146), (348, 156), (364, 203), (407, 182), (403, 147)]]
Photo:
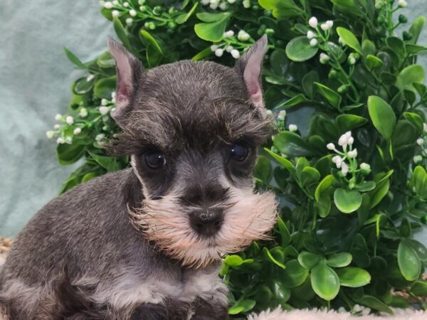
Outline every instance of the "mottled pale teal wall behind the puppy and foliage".
[[(409, 21), (427, 15), (426, 0), (407, 1)], [(1, 1), (0, 235), (16, 235), (73, 171), (59, 166), (56, 143), (46, 139), (55, 114), (67, 112), (78, 76), (63, 46), (87, 61), (105, 50), (113, 33), (96, 0)], [(420, 43), (427, 46), (426, 29)], [(427, 68), (427, 57), (420, 63)], [(292, 118), (305, 127), (307, 117)], [(417, 238), (427, 244), (426, 230)]]

